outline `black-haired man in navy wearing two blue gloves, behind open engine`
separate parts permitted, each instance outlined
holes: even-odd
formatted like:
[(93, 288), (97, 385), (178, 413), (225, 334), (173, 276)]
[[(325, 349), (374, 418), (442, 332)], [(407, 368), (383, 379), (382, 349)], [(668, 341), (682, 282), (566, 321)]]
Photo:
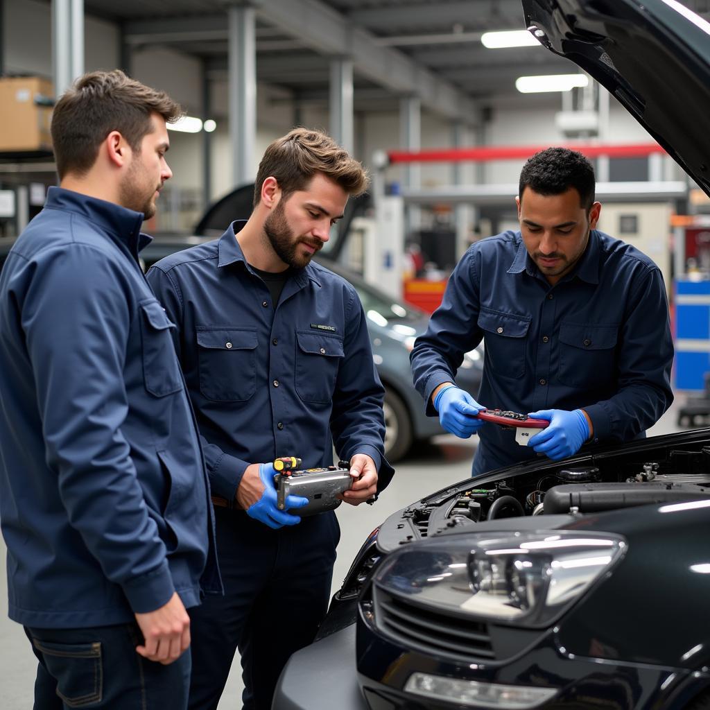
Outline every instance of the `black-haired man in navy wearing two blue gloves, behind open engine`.
[[(594, 169), (580, 153), (548, 148), (520, 173), (520, 231), (471, 246), (411, 354), (429, 415), (480, 442), (473, 474), (588, 441), (645, 435), (673, 401), (673, 344), (663, 278), (650, 258), (596, 229)], [(660, 238), (665, 238), (659, 225)], [(550, 425), (515, 443), (513, 430), (476, 419), (454, 386), (466, 351), (483, 339), (483, 406)]]

